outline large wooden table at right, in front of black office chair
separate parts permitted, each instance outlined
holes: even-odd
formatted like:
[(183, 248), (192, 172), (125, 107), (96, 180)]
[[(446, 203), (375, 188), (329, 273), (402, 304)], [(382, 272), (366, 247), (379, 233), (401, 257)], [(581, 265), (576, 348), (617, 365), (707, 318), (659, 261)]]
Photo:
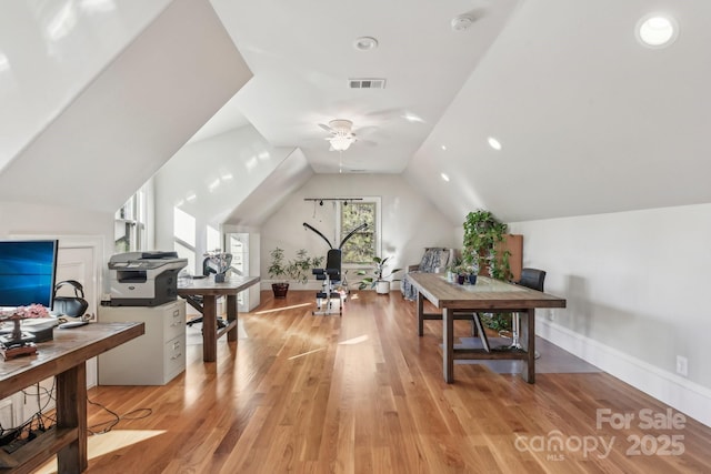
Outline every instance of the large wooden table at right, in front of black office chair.
[[(450, 283), (438, 273), (411, 273), (407, 276), (418, 290), (418, 334), (424, 331), (424, 320), (442, 320), (442, 365), (447, 383), (454, 382), (455, 359), (515, 359), (523, 361), (521, 377), (535, 382), (535, 309), (565, 307), (565, 300), (479, 276), (475, 285)], [(424, 299), (442, 310), (442, 314), (424, 313)], [(523, 351), (491, 351), (454, 347), (454, 312), (517, 312), (521, 314)]]

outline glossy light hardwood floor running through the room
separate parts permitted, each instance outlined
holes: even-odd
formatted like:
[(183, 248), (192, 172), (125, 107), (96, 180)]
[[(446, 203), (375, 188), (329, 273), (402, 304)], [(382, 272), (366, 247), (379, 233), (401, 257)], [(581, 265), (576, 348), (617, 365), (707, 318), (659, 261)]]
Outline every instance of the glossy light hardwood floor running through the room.
[[(711, 428), (681, 426), (683, 415), (605, 373), (540, 373), (530, 385), (462, 364), (449, 385), (441, 323), (418, 337), (414, 303), (364, 292), (342, 317), (313, 316), (313, 295), (263, 292), (217, 363), (191, 335), (188, 369), (166, 386), (92, 389), (119, 414), (152, 414), (92, 436), (89, 472), (711, 472)], [(455, 327), (469, 336), (467, 322)], [(109, 418), (89, 413), (90, 425)], [(634, 418), (598, 426), (598, 413)], [(677, 426), (648, 427), (648, 414)]]

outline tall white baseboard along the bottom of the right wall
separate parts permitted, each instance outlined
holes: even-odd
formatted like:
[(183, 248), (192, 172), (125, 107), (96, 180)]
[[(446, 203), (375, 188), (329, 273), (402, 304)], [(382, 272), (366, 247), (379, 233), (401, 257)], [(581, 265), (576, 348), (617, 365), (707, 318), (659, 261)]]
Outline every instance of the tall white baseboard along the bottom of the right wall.
[(543, 317), (535, 319), (535, 329), (537, 335), (711, 426), (711, 390)]

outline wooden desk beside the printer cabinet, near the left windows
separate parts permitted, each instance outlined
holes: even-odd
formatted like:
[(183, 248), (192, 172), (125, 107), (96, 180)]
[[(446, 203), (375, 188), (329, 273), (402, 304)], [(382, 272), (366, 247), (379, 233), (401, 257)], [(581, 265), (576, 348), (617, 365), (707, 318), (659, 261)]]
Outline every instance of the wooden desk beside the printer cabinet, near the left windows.
[[(259, 276), (232, 276), (216, 283), (214, 276), (179, 280), (180, 296), (202, 296), (202, 360), (218, 359), (218, 339), (227, 333), (228, 341), (237, 341), (237, 294), (259, 282)], [(227, 326), (218, 331), (218, 297), (227, 296)]]

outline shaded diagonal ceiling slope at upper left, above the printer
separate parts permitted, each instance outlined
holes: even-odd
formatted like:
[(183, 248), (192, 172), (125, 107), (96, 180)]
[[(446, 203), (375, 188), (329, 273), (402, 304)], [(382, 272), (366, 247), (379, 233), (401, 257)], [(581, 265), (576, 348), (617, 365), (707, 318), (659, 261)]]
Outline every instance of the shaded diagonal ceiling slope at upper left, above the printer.
[(251, 75), (210, 3), (176, 0), (37, 131), (0, 199), (114, 212)]

